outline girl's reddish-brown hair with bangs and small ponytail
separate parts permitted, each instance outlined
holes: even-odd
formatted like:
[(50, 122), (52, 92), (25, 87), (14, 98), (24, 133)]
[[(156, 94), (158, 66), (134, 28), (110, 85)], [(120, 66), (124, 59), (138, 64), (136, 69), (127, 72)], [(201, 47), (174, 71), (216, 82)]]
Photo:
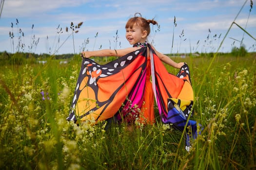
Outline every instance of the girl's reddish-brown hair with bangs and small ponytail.
[[(140, 15), (140, 17), (136, 17), (136, 15)], [(145, 19), (144, 17), (141, 16), (140, 13), (135, 13), (134, 17), (130, 18), (126, 25), (125, 29), (127, 28), (133, 28), (134, 24), (138, 25), (141, 27), (142, 31), (147, 31), (147, 35), (150, 34), (150, 26), (149, 24), (152, 23), (153, 25), (158, 25), (158, 22), (155, 21), (154, 19)]]

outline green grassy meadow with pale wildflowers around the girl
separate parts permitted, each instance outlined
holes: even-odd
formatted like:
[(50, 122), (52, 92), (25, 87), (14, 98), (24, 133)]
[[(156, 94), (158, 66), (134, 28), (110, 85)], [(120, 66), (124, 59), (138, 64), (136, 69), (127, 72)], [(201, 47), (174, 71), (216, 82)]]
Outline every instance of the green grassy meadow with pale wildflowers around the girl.
[[(256, 54), (174, 58), (190, 66), (195, 115), (204, 130), (184, 149), (163, 124), (127, 130), (66, 121), (81, 64), (0, 67), (0, 169), (256, 169)], [(209, 66), (211, 64), (211, 66)], [(167, 69), (176, 73), (175, 68)], [(158, 116), (158, 114), (156, 114)]]

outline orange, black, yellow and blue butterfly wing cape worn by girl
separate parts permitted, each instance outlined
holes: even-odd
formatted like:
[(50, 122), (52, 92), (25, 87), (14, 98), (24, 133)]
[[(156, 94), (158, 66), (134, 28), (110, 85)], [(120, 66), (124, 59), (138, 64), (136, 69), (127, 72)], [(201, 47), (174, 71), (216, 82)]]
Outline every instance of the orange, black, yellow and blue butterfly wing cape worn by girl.
[[(146, 67), (147, 62), (151, 62), (150, 68)], [(67, 120), (99, 121), (114, 116), (122, 120), (138, 114), (143, 104), (146, 69), (151, 69), (152, 88), (162, 122), (171, 123), (179, 130), (191, 126), (195, 138), (197, 122), (187, 120), (194, 100), (189, 68), (185, 64), (177, 75), (169, 73), (150, 45), (105, 65), (83, 58)], [(187, 146), (189, 140), (187, 136)]]

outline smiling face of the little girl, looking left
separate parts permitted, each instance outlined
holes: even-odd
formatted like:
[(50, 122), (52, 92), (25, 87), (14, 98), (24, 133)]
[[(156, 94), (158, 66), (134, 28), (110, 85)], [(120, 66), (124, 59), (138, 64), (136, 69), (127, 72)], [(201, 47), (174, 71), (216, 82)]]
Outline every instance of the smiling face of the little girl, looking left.
[(146, 41), (147, 31), (142, 31), (138, 25), (134, 24), (133, 28), (126, 29), (125, 37), (131, 45), (138, 42), (143, 43)]

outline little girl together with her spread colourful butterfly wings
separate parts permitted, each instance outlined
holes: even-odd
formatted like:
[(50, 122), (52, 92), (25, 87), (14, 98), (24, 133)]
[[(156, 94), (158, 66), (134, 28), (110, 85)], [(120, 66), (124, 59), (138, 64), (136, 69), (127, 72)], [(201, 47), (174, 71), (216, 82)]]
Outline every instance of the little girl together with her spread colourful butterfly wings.
[[(87, 120), (111, 122), (114, 118), (153, 124), (155, 96), (161, 121), (186, 131), (189, 150), (191, 138), (197, 137), (197, 122), (188, 120), (194, 100), (189, 68), (186, 63), (176, 63), (156, 51), (147, 42), (150, 24), (158, 23), (136, 15), (127, 21), (126, 39), (133, 45), (131, 48), (81, 53), (83, 62), (67, 120), (79, 124)], [(91, 56), (118, 56), (118, 59), (100, 65), (89, 59)], [(170, 74), (162, 62), (180, 68), (178, 74)]]

